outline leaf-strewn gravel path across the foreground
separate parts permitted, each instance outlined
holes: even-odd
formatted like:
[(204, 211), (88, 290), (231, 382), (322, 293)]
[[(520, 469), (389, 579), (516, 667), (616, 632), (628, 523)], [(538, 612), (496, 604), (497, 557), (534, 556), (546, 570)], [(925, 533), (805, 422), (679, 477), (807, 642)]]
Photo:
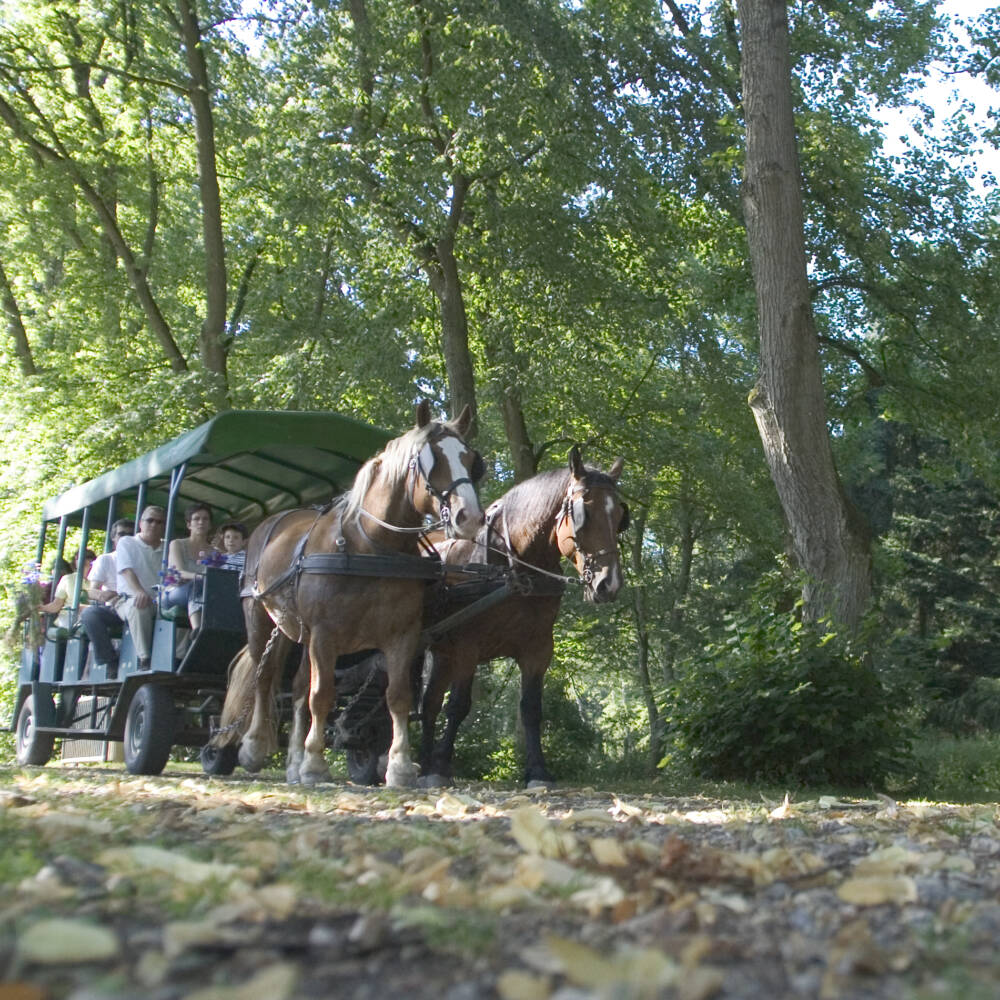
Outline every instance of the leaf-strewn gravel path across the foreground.
[(0, 768), (0, 1000), (1000, 993), (994, 806), (278, 777)]

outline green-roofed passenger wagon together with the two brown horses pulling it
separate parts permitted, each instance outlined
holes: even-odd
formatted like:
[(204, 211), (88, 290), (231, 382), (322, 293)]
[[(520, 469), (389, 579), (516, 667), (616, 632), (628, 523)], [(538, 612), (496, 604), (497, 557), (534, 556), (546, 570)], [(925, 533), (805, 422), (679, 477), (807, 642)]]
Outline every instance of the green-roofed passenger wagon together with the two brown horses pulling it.
[[(26, 649), (18, 760), (45, 763), (62, 737), (124, 740), (133, 773), (158, 773), (174, 745), (202, 746), (212, 774), (231, 772), (237, 753), (254, 771), (278, 748), (274, 706), (284, 705), (289, 780), (326, 779), (332, 736), (353, 780), (376, 780), (381, 758), (389, 784), (409, 784), (417, 768), (407, 729), (419, 705), (425, 774), (448, 780), (477, 663), (512, 656), (522, 674), (526, 777), (550, 780), (541, 682), (565, 582), (560, 560), (575, 564), (589, 600), (614, 599), (616, 535), (627, 524), (621, 463), (588, 469), (574, 448), (568, 469), (520, 484), (484, 516), (483, 463), (464, 441), (468, 423), (467, 412), (434, 421), (422, 404), (416, 427), (387, 440), (332, 414), (227, 413), (50, 502), (39, 560), (53, 523), (57, 558), (75, 525), (82, 554), (95, 519), (110, 535), (124, 509), (150, 503), (166, 508), (168, 531), (192, 501), (257, 526), (239, 586), (236, 574), (206, 572), (203, 622), (183, 654), (169, 615), (156, 619), (148, 667), (126, 629), (113, 677), (73, 632)], [(429, 518), (440, 548), (427, 542)], [(79, 587), (71, 607), (78, 600)], [(435, 744), (449, 687), (448, 727)]]

